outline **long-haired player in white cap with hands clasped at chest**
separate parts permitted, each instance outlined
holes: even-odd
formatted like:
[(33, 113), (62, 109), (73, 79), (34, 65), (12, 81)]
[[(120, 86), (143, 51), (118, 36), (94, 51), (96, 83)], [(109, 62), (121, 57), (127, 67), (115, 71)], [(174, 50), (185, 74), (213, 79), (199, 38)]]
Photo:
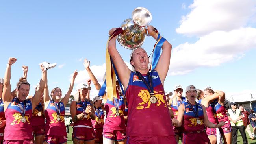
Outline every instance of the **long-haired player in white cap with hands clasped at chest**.
[(72, 139), (74, 144), (94, 144), (95, 133), (91, 120), (95, 120), (93, 101), (86, 98), (91, 87), (84, 83), (76, 87), (75, 100), (70, 104), (70, 114), (74, 122)]

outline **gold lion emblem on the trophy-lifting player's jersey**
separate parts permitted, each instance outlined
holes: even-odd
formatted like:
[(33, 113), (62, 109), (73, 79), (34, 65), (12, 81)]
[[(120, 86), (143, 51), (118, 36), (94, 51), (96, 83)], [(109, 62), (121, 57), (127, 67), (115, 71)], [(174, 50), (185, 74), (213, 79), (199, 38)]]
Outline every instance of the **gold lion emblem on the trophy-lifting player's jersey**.
[[(138, 94), (139, 98), (141, 98), (141, 100), (143, 100), (143, 102), (139, 103), (138, 105), (141, 106), (137, 106), (136, 109), (143, 109), (144, 106), (142, 106), (143, 104), (148, 104), (147, 107), (145, 107), (146, 109), (150, 107), (151, 102), (149, 101), (150, 98), (150, 94), (148, 92), (148, 90), (141, 90)], [(157, 98), (158, 104), (156, 104), (156, 106), (160, 106), (161, 102), (163, 102), (165, 104), (166, 107), (166, 103), (165, 100), (163, 99), (164, 93), (162, 91), (156, 92), (154, 91), (154, 96)]]

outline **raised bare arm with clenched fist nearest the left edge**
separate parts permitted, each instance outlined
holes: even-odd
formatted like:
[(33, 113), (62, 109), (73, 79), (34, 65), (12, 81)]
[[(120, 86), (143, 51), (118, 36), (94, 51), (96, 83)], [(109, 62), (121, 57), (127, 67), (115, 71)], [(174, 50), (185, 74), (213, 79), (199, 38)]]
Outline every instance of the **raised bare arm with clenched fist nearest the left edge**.
[(11, 57), (8, 60), (7, 63), (7, 67), (6, 67), (6, 72), (4, 75), (4, 88), (3, 88), (3, 102), (4, 102), (4, 111), (7, 109), (9, 103), (11, 102), (11, 100), (13, 99), (13, 97), (11, 96), (11, 84), (10, 84), (10, 80), (11, 80), (11, 65), (14, 64), (17, 61), (16, 58)]

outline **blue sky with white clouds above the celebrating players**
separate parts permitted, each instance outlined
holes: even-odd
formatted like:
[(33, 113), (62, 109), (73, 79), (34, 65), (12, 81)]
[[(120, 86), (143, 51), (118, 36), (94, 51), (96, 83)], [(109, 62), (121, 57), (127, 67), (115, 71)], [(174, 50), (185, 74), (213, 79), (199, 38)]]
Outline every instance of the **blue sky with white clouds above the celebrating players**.
[[(66, 92), (74, 70), (79, 71), (75, 87), (88, 78), (82, 64), (87, 58), (102, 83), (108, 31), (130, 18), (136, 7), (152, 13), (150, 25), (173, 45), (165, 91), (181, 84), (198, 89), (211, 86), (227, 97), (244, 93), (256, 97), (254, 0), (1, 1), (0, 77), (4, 77), (8, 58), (16, 57), (12, 89), (22, 76), (22, 65), (29, 67), (28, 81), (35, 86), (41, 77), (39, 63), (56, 62), (56, 68), (48, 71), (49, 89), (60, 87)], [(154, 43), (147, 37), (143, 48), (150, 53)], [(128, 61), (131, 51), (118, 42), (117, 48)]]

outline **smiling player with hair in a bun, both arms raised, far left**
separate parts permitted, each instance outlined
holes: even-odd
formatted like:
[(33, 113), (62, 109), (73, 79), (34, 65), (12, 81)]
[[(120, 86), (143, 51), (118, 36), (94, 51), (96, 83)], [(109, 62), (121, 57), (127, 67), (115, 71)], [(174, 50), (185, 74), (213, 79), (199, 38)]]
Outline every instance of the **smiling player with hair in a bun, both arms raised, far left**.
[(17, 97), (11, 96), (11, 65), (16, 62), (16, 58), (9, 58), (6, 73), (4, 77), (4, 89), (3, 89), (3, 102), (4, 111), (6, 116), (6, 127), (4, 133), (4, 143), (17, 143), (17, 144), (30, 144), (32, 140), (32, 127), (31, 116), (32, 111), (35, 109), (37, 103), (40, 101), (41, 94), (43, 93), (45, 85), (45, 70), (40, 65), (42, 70), (42, 78), (40, 80), (40, 87), (35, 92), (35, 95), (26, 100), (29, 94), (30, 84), (26, 81), (26, 78), (20, 78), (17, 83)]

